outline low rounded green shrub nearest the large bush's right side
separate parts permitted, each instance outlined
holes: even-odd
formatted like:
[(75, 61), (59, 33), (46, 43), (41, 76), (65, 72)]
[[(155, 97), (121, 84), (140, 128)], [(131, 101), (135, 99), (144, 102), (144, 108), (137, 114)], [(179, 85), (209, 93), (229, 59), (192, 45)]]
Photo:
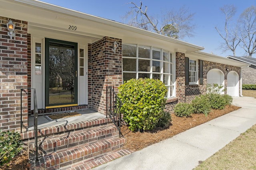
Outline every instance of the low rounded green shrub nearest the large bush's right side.
[(178, 103), (174, 106), (174, 114), (178, 117), (189, 117), (193, 112), (193, 106), (188, 103)]

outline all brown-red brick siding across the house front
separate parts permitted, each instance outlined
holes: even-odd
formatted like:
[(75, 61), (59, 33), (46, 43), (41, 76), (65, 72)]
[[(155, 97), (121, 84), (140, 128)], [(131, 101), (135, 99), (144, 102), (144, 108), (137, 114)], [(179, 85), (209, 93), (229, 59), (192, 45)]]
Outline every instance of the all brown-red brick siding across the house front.
[[(0, 17), (0, 127), (4, 130), (18, 131), (20, 130), (20, 88), (31, 88), (31, 36), (27, 33), (26, 21), (12, 20), (16, 24), (16, 36), (10, 39), (7, 35), (7, 21), (8, 18)], [(118, 43), (116, 52), (112, 51), (114, 41)], [(224, 72), (225, 89), (228, 74), (226, 68), (229, 71), (236, 71), (240, 79), (240, 67), (204, 61), (204, 84), (185, 85), (185, 54), (176, 52), (176, 98), (167, 100), (166, 111), (172, 113), (177, 103), (190, 103), (196, 96), (205, 94), (207, 73), (213, 68)], [(248, 69), (256, 70), (251, 67)], [(199, 74), (198, 70), (198, 77)], [(255, 72), (247, 74), (254, 75)], [(245, 82), (244, 79), (244, 84)], [(40, 109), (39, 114), (80, 109), (94, 109), (106, 114), (106, 86), (114, 86), (117, 92), (120, 84), (122, 84), (122, 40), (104, 37), (88, 44), (88, 105)], [(28, 102), (31, 102), (31, 96), (23, 94), (22, 119), (24, 125), (27, 125), (28, 110), (30, 110)]]

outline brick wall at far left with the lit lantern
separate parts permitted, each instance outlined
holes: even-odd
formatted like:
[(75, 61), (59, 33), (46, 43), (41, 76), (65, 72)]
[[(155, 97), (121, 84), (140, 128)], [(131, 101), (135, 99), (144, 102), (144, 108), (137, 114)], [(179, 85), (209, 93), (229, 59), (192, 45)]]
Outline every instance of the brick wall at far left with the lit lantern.
[[(27, 88), (27, 22), (15, 23), (15, 37), (7, 35), (8, 18), (0, 17), (0, 127), (20, 130), (20, 88)], [(27, 96), (22, 98), (24, 125), (27, 125)]]

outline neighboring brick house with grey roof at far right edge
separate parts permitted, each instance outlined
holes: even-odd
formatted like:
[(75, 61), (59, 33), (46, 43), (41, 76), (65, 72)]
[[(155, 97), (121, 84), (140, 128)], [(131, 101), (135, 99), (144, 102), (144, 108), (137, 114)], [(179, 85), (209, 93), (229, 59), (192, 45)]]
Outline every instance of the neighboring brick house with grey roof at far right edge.
[(226, 58), (250, 64), (249, 66), (242, 67), (242, 84), (256, 84), (256, 58), (235, 56), (227, 56)]

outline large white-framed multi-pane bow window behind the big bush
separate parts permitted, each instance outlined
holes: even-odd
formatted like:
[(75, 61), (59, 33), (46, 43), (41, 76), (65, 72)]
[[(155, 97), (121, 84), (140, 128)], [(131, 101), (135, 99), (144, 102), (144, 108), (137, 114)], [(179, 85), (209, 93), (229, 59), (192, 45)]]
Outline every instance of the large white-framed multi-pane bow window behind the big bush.
[(135, 44), (122, 45), (123, 82), (132, 78), (161, 80), (174, 97), (175, 58), (170, 51)]

